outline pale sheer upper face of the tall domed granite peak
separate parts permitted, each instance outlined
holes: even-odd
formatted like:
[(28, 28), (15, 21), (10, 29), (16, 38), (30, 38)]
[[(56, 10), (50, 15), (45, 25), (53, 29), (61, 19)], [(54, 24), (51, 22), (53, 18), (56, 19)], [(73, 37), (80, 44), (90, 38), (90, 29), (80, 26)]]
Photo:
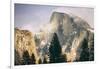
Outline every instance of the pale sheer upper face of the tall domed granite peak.
[(54, 12), (51, 16), (50, 23), (54, 24), (56, 26), (55, 29), (61, 31), (65, 36), (73, 31), (71, 19), (67, 14)]

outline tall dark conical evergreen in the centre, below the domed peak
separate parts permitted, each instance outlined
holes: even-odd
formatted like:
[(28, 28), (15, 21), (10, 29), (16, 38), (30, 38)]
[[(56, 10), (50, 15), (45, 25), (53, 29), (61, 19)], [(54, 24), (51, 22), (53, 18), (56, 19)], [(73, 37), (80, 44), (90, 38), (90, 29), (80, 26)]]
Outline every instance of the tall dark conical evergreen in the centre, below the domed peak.
[(50, 52), (50, 63), (59, 63), (65, 61), (63, 60), (63, 57), (61, 55), (61, 46), (56, 33), (54, 33), (53, 35), (49, 52)]

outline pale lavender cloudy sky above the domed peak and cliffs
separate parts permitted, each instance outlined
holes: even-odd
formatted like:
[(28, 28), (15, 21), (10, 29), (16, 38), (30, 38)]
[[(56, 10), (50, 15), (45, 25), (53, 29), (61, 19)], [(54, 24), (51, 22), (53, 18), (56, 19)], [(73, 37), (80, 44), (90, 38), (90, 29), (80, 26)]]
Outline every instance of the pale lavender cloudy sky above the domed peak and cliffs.
[(18, 3), (14, 5), (14, 26), (38, 32), (46, 24), (49, 24), (50, 16), (54, 11), (79, 16), (94, 28), (93, 8)]

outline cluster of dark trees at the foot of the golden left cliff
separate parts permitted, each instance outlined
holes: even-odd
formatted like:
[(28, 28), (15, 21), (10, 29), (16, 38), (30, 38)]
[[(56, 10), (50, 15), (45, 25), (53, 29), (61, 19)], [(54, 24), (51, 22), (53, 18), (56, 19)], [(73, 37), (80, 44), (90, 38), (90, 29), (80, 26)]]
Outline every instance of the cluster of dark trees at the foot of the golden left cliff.
[(24, 51), (23, 58), (20, 58), (19, 53), (15, 50), (15, 65), (35, 64), (35, 56), (29, 56), (28, 51)]

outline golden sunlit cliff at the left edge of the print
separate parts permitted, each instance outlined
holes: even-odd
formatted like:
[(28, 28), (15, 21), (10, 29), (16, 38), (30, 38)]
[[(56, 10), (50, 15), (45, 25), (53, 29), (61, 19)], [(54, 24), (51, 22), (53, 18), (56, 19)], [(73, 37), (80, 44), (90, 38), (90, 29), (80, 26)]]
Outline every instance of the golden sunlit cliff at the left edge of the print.
[(36, 45), (32, 33), (28, 30), (20, 30), (15, 28), (15, 64), (22, 65), (24, 64), (24, 53), (28, 55), (31, 59), (34, 55), (33, 63), (37, 63), (38, 55), (36, 51)]

